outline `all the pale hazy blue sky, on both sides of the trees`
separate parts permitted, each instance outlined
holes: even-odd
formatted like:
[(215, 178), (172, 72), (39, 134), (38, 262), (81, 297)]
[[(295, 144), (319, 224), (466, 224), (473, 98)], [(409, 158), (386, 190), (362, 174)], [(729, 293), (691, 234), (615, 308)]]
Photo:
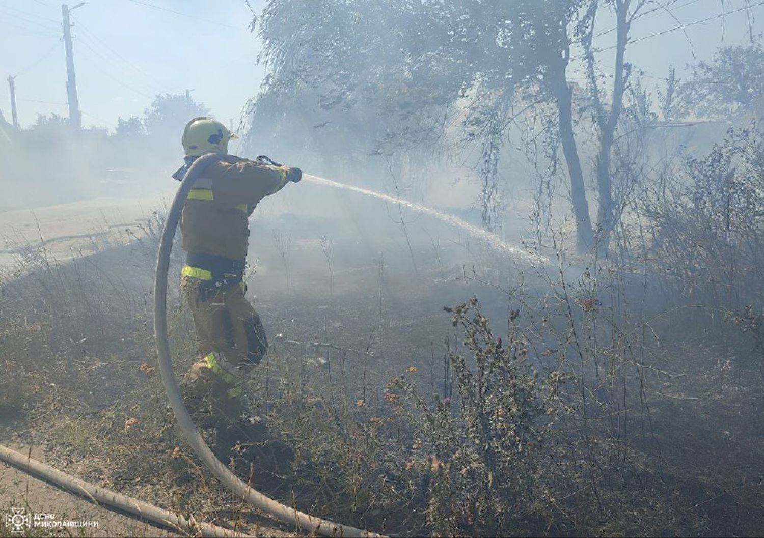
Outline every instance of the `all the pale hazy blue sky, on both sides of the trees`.
[[(383, 1), (383, 0), (380, 0)], [(266, 0), (250, 0), (259, 13)], [(634, 0), (636, 2), (636, 0)], [(746, 0), (661, 0), (671, 14), (657, 10), (633, 24), (634, 39), (669, 30), (679, 23), (714, 17), (740, 8)], [(650, 37), (630, 45), (627, 60), (646, 70), (660, 84), (669, 65), (710, 59), (716, 47), (743, 43), (764, 31), (764, 2), (746, 13), (681, 31)], [(78, 3), (71, 0), (70, 6)], [(762, 4), (762, 5), (759, 5)], [(645, 10), (655, 8), (650, 2)], [(176, 11), (173, 12), (173, 11)], [(83, 125), (114, 127), (117, 118), (140, 115), (157, 93), (189, 89), (215, 117), (238, 124), (248, 98), (257, 94), (263, 77), (256, 63), (260, 43), (248, 31), (251, 21), (245, 0), (86, 0), (72, 12), (74, 56)], [(38, 113), (66, 114), (66, 64), (60, 42), (61, 7), (53, 0), (0, 0), (0, 110), (10, 118), (8, 75), (15, 81), (21, 125)], [(607, 17), (601, 27), (610, 26)], [(614, 32), (597, 38), (613, 43)], [(604, 71), (613, 65), (612, 52), (600, 54)], [(581, 78), (573, 66), (571, 78)], [(42, 101), (42, 102), (40, 102)]]

